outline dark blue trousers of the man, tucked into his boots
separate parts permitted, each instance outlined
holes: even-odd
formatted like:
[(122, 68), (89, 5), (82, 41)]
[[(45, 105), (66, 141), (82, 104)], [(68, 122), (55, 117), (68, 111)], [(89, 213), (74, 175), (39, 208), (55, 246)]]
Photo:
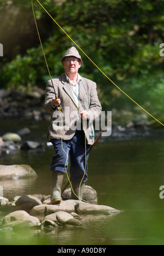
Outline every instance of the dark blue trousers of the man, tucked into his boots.
[(51, 143), (54, 145), (55, 149), (55, 155), (53, 156), (51, 163), (51, 171), (60, 171), (66, 173), (68, 170), (70, 154), (71, 181), (80, 183), (83, 179), (83, 182), (85, 183), (87, 181), (87, 160), (89, 159), (90, 146), (86, 144), (85, 150), (84, 131), (77, 130), (74, 137), (69, 141), (52, 139)]

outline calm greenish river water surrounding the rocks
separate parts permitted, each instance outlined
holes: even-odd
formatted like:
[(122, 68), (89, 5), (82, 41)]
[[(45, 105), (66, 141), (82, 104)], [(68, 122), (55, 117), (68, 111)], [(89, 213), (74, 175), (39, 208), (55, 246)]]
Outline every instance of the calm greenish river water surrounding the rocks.
[[(12, 127), (9, 125), (4, 122), (1, 132), (9, 131), (7, 127)], [(12, 131), (19, 125), (25, 126), (18, 123)], [(27, 125), (33, 139), (45, 142), (46, 124)], [(87, 184), (97, 190), (99, 204), (121, 213), (85, 217), (81, 228), (58, 228), (54, 232), (0, 230), (0, 245), (163, 245), (164, 199), (159, 196), (164, 185), (163, 143), (163, 135), (151, 133), (151, 137), (142, 139), (137, 135), (121, 140), (105, 138), (92, 150)], [(53, 154), (52, 147), (45, 147), (44, 152), (18, 150), (4, 154), (0, 165), (28, 164), (38, 174), (36, 179), (1, 181), (4, 197), (49, 195)], [(65, 177), (63, 185), (66, 183)]]

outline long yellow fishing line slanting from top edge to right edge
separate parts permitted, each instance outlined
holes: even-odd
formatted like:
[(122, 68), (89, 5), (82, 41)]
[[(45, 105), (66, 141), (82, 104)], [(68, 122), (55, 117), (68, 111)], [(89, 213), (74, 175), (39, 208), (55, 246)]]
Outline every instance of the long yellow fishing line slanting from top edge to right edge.
[(144, 112), (146, 112), (148, 115), (150, 115), (151, 118), (155, 119), (158, 123), (160, 123), (161, 125), (164, 126), (164, 124), (162, 124), (158, 119), (156, 119), (153, 115), (151, 115), (147, 110), (145, 110), (142, 106), (140, 106), (136, 101), (133, 100), (133, 98), (131, 98), (129, 95), (126, 94), (125, 91), (123, 91), (118, 85), (116, 85), (109, 77), (108, 75), (106, 75), (101, 68), (99, 68), (95, 62), (93, 62), (90, 57), (80, 48), (80, 46), (74, 42), (74, 40), (67, 34), (67, 32), (65, 30), (63, 30), (63, 28), (57, 23), (57, 21), (52, 18), (52, 16), (48, 13), (48, 11), (43, 7), (43, 5), (37, 0), (37, 2), (40, 4), (40, 6), (45, 10), (45, 12), (50, 16), (50, 18), (56, 23), (56, 25), (58, 27), (60, 27), (60, 29), (66, 34), (66, 36), (79, 48), (80, 51), (82, 51), (82, 53), (87, 57), (87, 59), (89, 59), (93, 65), (95, 65), (95, 67), (112, 83), (116, 86), (116, 88), (118, 88), (126, 97), (128, 97), (134, 104), (136, 104), (139, 108), (141, 108)]

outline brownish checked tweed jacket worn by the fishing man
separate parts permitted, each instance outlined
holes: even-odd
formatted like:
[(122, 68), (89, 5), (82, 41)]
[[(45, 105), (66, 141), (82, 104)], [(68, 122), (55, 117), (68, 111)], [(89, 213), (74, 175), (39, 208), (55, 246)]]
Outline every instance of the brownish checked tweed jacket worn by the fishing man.
[[(75, 131), (81, 129), (79, 126), (79, 120), (81, 117), (79, 111), (87, 110), (89, 113), (89, 120), (83, 120), (83, 130), (86, 134), (87, 144), (92, 145), (95, 141), (93, 121), (101, 114), (101, 103), (98, 100), (96, 83), (89, 79), (81, 77), (79, 83), (79, 111), (75, 107), (74, 94), (71, 86), (66, 79), (66, 74), (61, 77), (52, 79), (46, 85), (44, 109), (51, 114), (51, 121), (49, 125), (48, 141), (52, 139), (72, 139), (75, 135)], [(62, 111), (52, 107), (52, 98), (55, 97), (55, 93), (61, 100)], [(84, 124), (85, 122), (85, 124)]]

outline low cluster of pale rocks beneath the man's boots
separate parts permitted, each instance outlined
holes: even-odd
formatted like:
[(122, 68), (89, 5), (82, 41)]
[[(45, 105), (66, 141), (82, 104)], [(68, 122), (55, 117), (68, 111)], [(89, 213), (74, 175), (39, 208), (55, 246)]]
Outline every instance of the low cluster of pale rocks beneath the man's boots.
[[(91, 205), (77, 200), (62, 201), (58, 205), (49, 205), (50, 196), (16, 196), (9, 202), (0, 197), (0, 229), (34, 228), (53, 231), (61, 226), (79, 226), (85, 216), (101, 219), (102, 216), (120, 213), (109, 206)], [(10, 213), (7, 214), (7, 211)], [(84, 223), (84, 222), (83, 222)]]

